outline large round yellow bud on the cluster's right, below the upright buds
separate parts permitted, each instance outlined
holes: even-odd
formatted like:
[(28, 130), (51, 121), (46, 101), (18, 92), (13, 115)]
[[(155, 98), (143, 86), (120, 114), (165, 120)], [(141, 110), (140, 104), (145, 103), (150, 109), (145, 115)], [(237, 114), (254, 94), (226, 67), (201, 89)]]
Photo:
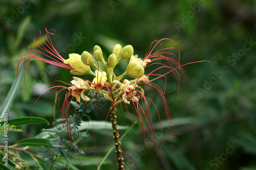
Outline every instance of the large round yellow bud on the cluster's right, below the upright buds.
[(144, 75), (144, 68), (139, 62), (132, 61), (128, 64), (126, 72), (128, 76), (137, 79), (140, 76)]

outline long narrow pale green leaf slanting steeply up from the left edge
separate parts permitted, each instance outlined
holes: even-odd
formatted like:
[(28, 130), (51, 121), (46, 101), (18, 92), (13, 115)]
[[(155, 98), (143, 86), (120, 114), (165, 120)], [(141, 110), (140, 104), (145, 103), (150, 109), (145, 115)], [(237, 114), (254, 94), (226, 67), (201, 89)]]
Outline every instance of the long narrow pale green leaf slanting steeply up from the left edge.
[(2, 107), (0, 109), (0, 114), (1, 114), (0, 117), (3, 117), (4, 113), (9, 111), (9, 109), (12, 106), (12, 103), (14, 101), (14, 98), (18, 92), (18, 89), (19, 89), (20, 85), (22, 84), (22, 80), (23, 80), (23, 76), (24, 76), (24, 67), (23, 67), (23, 65), (21, 65), (20, 67), (21, 67), (20, 74), (18, 75), (18, 78), (14, 79), (14, 81), (11, 85), (11, 88), (10, 88), (10, 90), (4, 100), (4, 103), (2, 104)]

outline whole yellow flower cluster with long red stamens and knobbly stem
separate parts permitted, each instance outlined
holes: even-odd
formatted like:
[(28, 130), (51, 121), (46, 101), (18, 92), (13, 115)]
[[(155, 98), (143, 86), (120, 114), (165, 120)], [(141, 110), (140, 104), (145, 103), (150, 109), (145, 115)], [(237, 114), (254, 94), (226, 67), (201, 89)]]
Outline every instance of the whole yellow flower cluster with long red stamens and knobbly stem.
[[(93, 48), (93, 54), (90, 54), (87, 51), (84, 51), (81, 55), (79, 54), (70, 54), (68, 59), (63, 59), (55, 50), (52, 41), (50, 39), (50, 31), (54, 30), (47, 30), (46, 29), (46, 40), (44, 42), (37, 37), (34, 39), (34, 42), (37, 41), (38, 43), (34, 43), (34, 45), (29, 47), (29, 51), (23, 54), (22, 57), (19, 57), (17, 62), (17, 73), (18, 67), (22, 60), (29, 58), (29, 62), (32, 60), (40, 60), (44, 61), (56, 66), (60, 66), (66, 69), (70, 69), (70, 73), (72, 75), (83, 76), (83, 78), (73, 77), (71, 81), (72, 84), (65, 83), (70, 87), (66, 86), (54, 86), (51, 89), (55, 88), (62, 88), (68, 90), (66, 93), (65, 101), (63, 102), (62, 107), (58, 106), (61, 110), (64, 117), (67, 118), (69, 115), (69, 102), (73, 99), (76, 99), (77, 102), (88, 102), (90, 98), (86, 95), (87, 92), (96, 91), (97, 94), (103, 94), (104, 98), (108, 99), (111, 104), (111, 110), (109, 111), (108, 115), (111, 113), (111, 121), (113, 125), (113, 133), (115, 138), (116, 144), (116, 151), (117, 156), (118, 152), (121, 151), (118, 143), (119, 141), (119, 134), (116, 132), (118, 128), (116, 128), (116, 106), (120, 105), (121, 111), (123, 112), (123, 105), (127, 110), (127, 114), (129, 113), (129, 109), (127, 105), (133, 106), (133, 111), (137, 114), (139, 122), (141, 123), (142, 133), (143, 133), (143, 140), (145, 144), (145, 129), (144, 124), (147, 125), (147, 133), (150, 134), (152, 143), (157, 151), (158, 147), (161, 144), (156, 139), (155, 130), (152, 123), (152, 116), (151, 116), (151, 108), (152, 106), (155, 107), (156, 113), (158, 114), (159, 121), (161, 123), (160, 117), (162, 117), (154, 104), (154, 100), (147, 98), (143, 86), (150, 86), (159, 92), (164, 108), (164, 114), (168, 121), (169, 127), (171, 126), (170, 123), (170, 115), (167, 102), (165, 100), (165, 85), (163, 88), (160, 88), (158, 85), (154, 84), (153, 81), (156, 81), (159, 78), (165, 78), (166, 84), (166, 75), (172, 73), (177, 80), (177, 88), (178, 92), (180, 89), (180, 79), (181, 77), (184, 81), (187, 81), (185, 71), (182, 66), (190, 64), (180, 64), (180, 54), (175, 56), (173, 53), (169, 51), (173, 49), (173, 47), (169, 48), (166, 47), (163, 41), (171, 41), (175, 43), (173, 40), (170, 39), (161, 39), (156, 40), (148, 45), (145, 57), (138, 58), (138, 55), (134, 55), (134, 48), (132, 45), (126, 45), (122, 47), (120, 44), (116, 44), (113, 47), (112, 54), (109, 55), (108, 59), (103, 57), (102, 50), (100, 46), (95, 45)], [(39, 45), (36, 45), (39, 44)], [(157, 47), (161, 47), (160, 50), (155, 50)], [(177, 44), (175, 46), (178, 49)], [(34, 48), (32, 48), (34, 47)], [(36, 53), (36, 54), (33, 54)], [(38, 57), (38, 53), (42, 54), (46, 58)], [(32, 59), (31, 59), (32, 58)], [(123, 60), (130, 60), (127, 64), (126, 70), (121, 75), (116, 75), (115, 68), (116, 66), (122, 62)], [(29, 63), (28, 62), (28, 63)], [(101, 62), (101, 64), (99, 64)], [(198, 61), (203, 62), (203, 61)], [(193, 62), (197, 63), (197, 62)], [(100, 67), (101, 65), (101, 67)], [(158, 66), (155, 66), (158, 65)], [(151, 68), (154, 68), (153, 70)], [(27, 68), (27, 64), (25, 64), (25, 69)], [(159, 74), (159, 70), (163, 69), (165, 72), (163, 74)], [(95, 70), (95, 71), (92, 71)], [(147, 73), (145, 73), (147, 72)], [(181, 74), (181, 76), (180, 76)], [(93, 77), (92, 81), (90, 80), (90, 76)], [(54, 91), (55, 91), (54, 90)], [(70, 98), (72, 97), (72, 98)], [(82, 99), (82, 100), (81, 100)], [(140, 101), (144, 102), (144, 106), (140, 105)], [(123, 105), (122, 105), (123, 103)], [(161, 113), (162, 114), (162, 113)], [(129, 116), (130, 117), (130, 116)], [(170, 133), (170, 128), (169, 128)], [(117, 136), (117, 137), (115, 137)], [(158, 144), (158, 145), (156, 145)], [(121, 158), (118, 160), (122, 160)], [(122, 162), (119, 162), (122, 164)]]

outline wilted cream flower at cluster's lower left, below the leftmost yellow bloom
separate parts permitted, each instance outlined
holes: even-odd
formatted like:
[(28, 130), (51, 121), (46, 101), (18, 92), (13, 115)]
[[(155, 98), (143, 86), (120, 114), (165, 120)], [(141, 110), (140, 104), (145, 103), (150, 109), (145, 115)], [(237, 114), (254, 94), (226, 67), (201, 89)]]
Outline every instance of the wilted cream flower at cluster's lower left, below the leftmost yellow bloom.
[(71, 83), (74, 86), (69, 87), (69, 89), (72, 90), (72, 95), (76, 98), (77, 102), (81, 102), (80, 98), (88, 102), (90, 98), (84, 95), (84, 92), (90, 88), (89, 83), (77, 77), (73, 77), (73, 79), (74, 80), (72, 80)]

